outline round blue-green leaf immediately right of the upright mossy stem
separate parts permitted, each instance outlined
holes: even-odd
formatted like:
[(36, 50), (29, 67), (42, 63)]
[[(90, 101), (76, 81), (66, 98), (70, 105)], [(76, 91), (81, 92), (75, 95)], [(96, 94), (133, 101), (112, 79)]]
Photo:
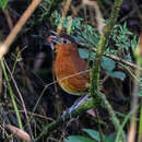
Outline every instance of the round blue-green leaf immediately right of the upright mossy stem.
[(100, 66), (106, 71), (113, 71), (116, 67), (116, 62), (113, 59), (109, 59), (107, 57), (103, 57)]

